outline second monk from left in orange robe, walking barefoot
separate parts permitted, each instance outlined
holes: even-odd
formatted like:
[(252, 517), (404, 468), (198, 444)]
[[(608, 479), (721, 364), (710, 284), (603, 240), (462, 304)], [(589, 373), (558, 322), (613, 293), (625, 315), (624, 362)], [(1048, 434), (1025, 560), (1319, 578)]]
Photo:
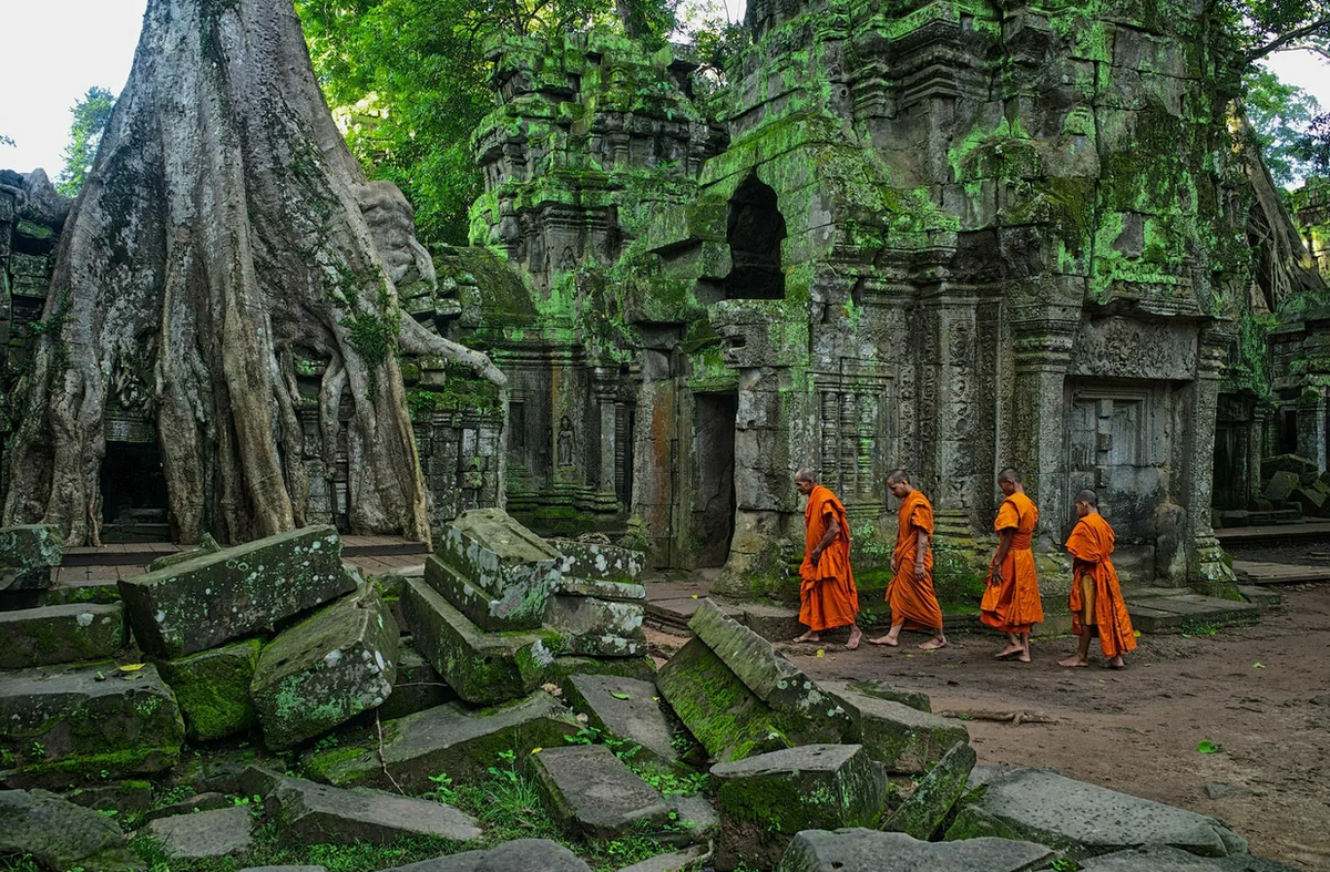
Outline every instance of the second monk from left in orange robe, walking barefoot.
[(910, 484), (904, 469), (887, 476), (887, 489), (900, 500), (898, 510), (900, 526), (896, 548), (891, 553), (891, 584), (887, 586), (887, 605), (891, 607), (891, 630), (874, 645), (900, 643), (900, 630), (924, 630), (932, 638), (920, 645), (926, 651), (946, 647), (942, 633), (942, 607), (932, 589), (932, 504)]

